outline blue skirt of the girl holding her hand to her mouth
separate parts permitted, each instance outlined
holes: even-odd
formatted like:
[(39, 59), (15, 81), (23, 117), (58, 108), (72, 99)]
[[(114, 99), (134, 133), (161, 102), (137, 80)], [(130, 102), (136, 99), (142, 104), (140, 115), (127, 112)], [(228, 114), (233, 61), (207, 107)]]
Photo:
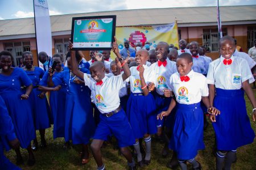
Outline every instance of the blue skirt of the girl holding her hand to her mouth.
[(133, 129), (135, 139), (143, 138), (145, 134), (155, 134), (155, 100), (152, 94), (130, 94), (127, 101), (127, 117)]

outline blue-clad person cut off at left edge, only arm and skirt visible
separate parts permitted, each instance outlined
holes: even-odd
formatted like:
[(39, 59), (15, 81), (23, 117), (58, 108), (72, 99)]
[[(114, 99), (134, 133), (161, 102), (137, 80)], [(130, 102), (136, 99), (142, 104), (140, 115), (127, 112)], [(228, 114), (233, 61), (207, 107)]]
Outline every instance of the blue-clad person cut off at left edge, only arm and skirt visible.
[[(3, 142), (9, 143), (14, 149), (19, 149), (19, 140), (16, 137), (14, 125), (7, 111), (5, 101), (0, 96), (0, 169), (18, 170), (3, 154)], [(6, 141), (5, 141), (6, 140)]]

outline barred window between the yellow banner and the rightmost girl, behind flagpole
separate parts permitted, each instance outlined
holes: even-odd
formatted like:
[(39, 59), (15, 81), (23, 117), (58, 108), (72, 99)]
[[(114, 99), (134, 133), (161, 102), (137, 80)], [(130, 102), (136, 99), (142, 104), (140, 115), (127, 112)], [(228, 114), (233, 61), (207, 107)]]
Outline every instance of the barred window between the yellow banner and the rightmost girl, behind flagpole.
[[(222, 28), (222, 35), (227, 35), (226, 28)], [(218, 52), (218, 29), (203, 29), (203, 45), (207, 52)]]

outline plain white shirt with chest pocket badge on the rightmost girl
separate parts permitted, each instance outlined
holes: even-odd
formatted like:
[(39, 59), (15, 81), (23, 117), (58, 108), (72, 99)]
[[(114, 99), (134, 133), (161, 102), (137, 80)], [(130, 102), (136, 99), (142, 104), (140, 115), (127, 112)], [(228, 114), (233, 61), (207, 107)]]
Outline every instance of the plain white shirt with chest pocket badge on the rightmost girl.
[(239, 90), (242, 82), (249, 80), (254, 82), (253, 74), (246, 60), (240, 57), (232, 56), (232, 63), (224, 65), (224, 57), (220, 57), (209, 65), (207, 74), (207, 83), (214, 84), (216, 88), (224, 90)]

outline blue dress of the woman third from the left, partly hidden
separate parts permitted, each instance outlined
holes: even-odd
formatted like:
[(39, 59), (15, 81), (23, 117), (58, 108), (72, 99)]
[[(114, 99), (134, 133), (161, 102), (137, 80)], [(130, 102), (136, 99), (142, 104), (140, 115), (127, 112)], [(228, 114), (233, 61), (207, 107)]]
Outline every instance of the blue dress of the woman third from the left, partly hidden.
[[(58, 72), (52, 75), (55, 78)], [(40, 86), (48, 86), (49, 73), (46, 71), (43, 78), (41, 79)], [(59, 91), (51, 91), (49, 95), (49, 103), (51, 107), (51, 112), (53, 116), (53, 139), (65, 137), (65, 101), (67, 93), (67, 84), (61, 83), (61, 88)]]

